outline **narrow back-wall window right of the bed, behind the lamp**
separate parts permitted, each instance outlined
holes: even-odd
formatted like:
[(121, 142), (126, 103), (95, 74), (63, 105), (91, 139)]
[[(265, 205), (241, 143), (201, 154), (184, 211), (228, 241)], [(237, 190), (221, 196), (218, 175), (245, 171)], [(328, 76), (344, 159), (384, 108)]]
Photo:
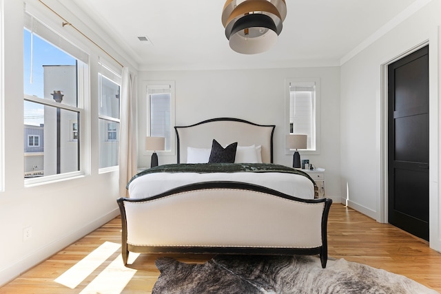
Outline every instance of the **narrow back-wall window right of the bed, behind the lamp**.
[(287, 79), (287, 134), (306, 134), (307, 150), (318, 154), (319, 134), (318, 78)]

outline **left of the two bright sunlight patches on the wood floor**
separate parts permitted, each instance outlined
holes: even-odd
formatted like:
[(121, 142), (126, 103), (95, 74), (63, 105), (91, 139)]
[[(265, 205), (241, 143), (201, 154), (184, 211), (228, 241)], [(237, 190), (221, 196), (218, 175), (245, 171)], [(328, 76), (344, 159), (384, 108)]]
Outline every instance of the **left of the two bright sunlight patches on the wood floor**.
[[(88, 256), (77, 262), (68, 271), (57, 277), (55, 282), (76, 288), (86, 277), (91, 275), (103, 262), (120, 249), (121, 245), (113, 242), (104, 242)], [(121, 256), (119, 257), (121, 259)], [(112, 262), (113, 263), (113, 262)]]

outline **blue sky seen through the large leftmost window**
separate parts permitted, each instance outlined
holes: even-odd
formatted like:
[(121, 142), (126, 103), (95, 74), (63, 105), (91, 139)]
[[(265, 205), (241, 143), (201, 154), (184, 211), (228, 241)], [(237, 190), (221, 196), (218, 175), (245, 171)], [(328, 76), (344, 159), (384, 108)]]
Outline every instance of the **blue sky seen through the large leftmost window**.
[[(54, 45), (44, 41), (37, 36), (37, 34), (33, 35), (31, 42), (31, 33), (28, 30), (23, 30), (23, 36), (24, 94), (52, 99), (52, 96), (43, 97), (43, 65), (75, 65), (76, 59), (62, 50), (59, 50)], [(31, 43), (33, 44), (33, 50), (31, 50)], [(32, 81), (30, 74), (31, 67)], [(40, 125), (44, 122), (43, 105), (25, 101), (24, 106), (25, 125)]]

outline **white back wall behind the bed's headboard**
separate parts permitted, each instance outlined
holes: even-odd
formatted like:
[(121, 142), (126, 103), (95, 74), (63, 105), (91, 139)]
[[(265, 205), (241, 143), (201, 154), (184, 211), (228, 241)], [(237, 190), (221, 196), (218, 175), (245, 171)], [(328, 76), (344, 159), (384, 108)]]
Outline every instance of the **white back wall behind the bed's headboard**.
[[(213, 70), (139, 73), (139, 138), (144, 138), (146, 96), (143, 81), (175, 81), (176, 125), (216, 117), (242, 118), (276, 125), (274, 162), (292, 165), (285, 154), (285, 78), (320, 78), (320, 154), (300, 155), (326, 169), (327, 197), (340, 202), (340, 68)], [(228, 130), (225, 130), (228, 132)], [(140, 140), (139, 150), (143, 150)], [(150, 167), (151, 153), (141, 151), (139, 167)], [(160, 164), (176, 163), (176, 154), (158, 152)]]

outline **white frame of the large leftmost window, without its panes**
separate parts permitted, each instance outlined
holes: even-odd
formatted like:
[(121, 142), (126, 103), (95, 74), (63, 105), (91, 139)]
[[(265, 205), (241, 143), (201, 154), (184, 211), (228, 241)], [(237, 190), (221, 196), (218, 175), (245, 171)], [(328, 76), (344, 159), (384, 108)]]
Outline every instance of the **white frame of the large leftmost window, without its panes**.
[[(45, 185), (49, 184), (51, 182), (58, 182), (60, 180), (70, 180), (74, 178), (79, 178), (82, 176), (85, 176), (86, 174), (90, 174), (90, 118), (86, 116), (86, 113), (89, 112), (89, 87), (90, 87), (90, 76), (89, 76), (89, 70), (90, 70), (90, 55), (87, 53), (88, 50), (85, 50), (85, 46), (81, 46), (83, 43), (79, 41), (79, 39), (76, 39), (72, 34), (69, 34), (68, 32), (57, 30), (57, 26), (54, 26), (54, 23), (48, 19), (47, 17), (43, 16), (41, 12), (34, 8), (33, 6), (26, 6), (25, 14), (30, 14), (31, 17), (34, 17), (34, 21), (38, 22), (39, 25), (43, 25), (46, 32), (50, 32), (50, 34), (54, 34), (54, 36), (57, 36), (60, 40), (63, 40), (66, 44), (68, 44), (68, 48), (74, 48), (77, 50), (77, 52), (81, 52), (81, 58), (78, 56), (74, 56), (70, 54), (69, 52), (66, 52), (67, 54), (71, 55), (76, 59), (76, 91), (77, 91), (77, 97), (78, 102), (76, 107), (65, 105), (63, 103), (57, 103), (51, 99), (46, 99), (43, 97), (37, 97), (37, 96), (30, 96), (28, 94), (24, 94), (23, 89), (23, 101), (29, 101), (32, 103), (37, 103), (39, 105), (43, 106), (50, 106), (55, 107), (59, 109), (65, 109), (68, 111), (76, 112), (79, 115), (79, 158), (78, 158), (78, 164), (79, 164), (79, 170), (78, 171), (70, 171), (62, 174), (54, 174), (50, 176), (42, 176), (39, 178), (24, 178), (24, 185), (25, 187), (32, 187), (35, 185)], [(23, 24), (23, 30), (29, 30), (25, 24)], [(39, 34), (37, 34), (39, 35)], [(41, 36), (40, 36), (41, 37)], [(59, 48), (59, 45), (56, 43), (53, 43), (49, 40), (46, 40), (45, 38), (41, 37), (48, 43), (52, 44), (54, 47)], [(73, 45), (76, 44), (76, 45)], [(87, 62), (85, 62), (87, 61)], [(70, 138), (70, 135), (68, 135)]]

